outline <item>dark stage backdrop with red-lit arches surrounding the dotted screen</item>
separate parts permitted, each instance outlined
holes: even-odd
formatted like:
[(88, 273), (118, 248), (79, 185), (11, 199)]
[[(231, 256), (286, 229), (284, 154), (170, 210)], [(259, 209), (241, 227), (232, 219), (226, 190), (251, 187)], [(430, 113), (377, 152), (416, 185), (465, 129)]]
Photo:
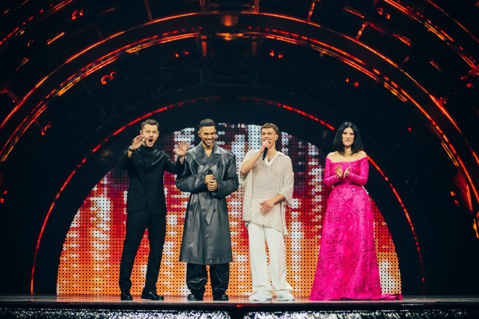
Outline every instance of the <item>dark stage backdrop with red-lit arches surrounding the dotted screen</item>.
[(283, 106), (361, 129), (405, 295), (479, 293), (474, 1), (20, 3), (0, 4), (0, 293), (55, 292), (74, 212), (135, 119), (268, 121), (330, 150)]

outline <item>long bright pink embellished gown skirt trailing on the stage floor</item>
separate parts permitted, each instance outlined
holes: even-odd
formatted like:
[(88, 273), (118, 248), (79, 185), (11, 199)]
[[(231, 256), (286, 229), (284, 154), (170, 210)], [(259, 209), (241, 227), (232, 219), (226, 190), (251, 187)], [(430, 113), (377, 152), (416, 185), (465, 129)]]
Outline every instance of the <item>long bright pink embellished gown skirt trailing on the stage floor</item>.
[(309, 299), (402, 299), (381, 294), (374, 217), (365, 189), (354, 183), (334, 186), (324, 218)]

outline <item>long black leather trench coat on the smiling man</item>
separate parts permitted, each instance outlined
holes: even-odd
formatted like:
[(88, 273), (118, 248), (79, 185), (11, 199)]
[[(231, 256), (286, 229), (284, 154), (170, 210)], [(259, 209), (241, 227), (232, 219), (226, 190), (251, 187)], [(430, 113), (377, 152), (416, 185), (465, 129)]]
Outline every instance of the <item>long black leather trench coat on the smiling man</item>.
[[(205, 176), (210, 169), (218, 182), (218, 189), (213, 192), (208, 191), (205, 184)], [(199, 265), (232, 262), (226, 197), (239, 186), (235, 154), (215, 143), (208, 157), (203, 145), (198, 145), (187, 152), (183, 173), (176, 178), (176, 186), (191, 193), (180, 261)]]

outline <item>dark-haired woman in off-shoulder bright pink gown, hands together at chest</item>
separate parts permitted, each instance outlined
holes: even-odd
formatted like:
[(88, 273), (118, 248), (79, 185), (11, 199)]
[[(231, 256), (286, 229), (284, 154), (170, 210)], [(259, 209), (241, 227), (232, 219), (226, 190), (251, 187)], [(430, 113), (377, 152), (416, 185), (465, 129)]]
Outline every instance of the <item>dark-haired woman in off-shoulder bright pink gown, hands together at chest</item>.
[(374, 216), (363, 188), (369, 162), (353, 123), (343, 123), (326, 158), (324, 183), (332, 186), (322, 226), (310, 300), (401, 299), (381, 294)]

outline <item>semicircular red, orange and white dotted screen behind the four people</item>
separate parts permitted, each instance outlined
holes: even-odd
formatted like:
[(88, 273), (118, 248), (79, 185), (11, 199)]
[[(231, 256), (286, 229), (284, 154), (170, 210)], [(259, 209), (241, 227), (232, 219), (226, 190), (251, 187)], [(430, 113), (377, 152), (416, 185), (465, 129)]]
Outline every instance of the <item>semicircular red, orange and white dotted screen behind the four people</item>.
[[(185, 140), (199, 143), (196, 130), (187, 128), (158, 139), (157, 146), (173, 154), (175, 145)], [(260, 146), (257, 125), (219, 124), (219, 145), (233, 151), (238, 166), (250, 149)], [(288, 155), (294, 170), (294, 202), (286, 212), (289, 236), (285, 238), (287, 279), (295, 296), (309, 296), (316, 269), (321, 238), (321, 223), (330, 187), (322, 183), (324, 160), (329, 151), (281, 133), (277, 149)], [(239, 169), (239, 168), (238, 168)], [(167, 232), (158, 292), (187, 295), (186, 264), (178, 261), (188, 193), (175, 187), (175, 176), (165, 173)], [(367, 185), (366, 185), (367, 187)], [(91, 190), (78, 209), (63, 244), (57, 277), (58, 294), (119, 294), (118, 275), (125, 236), (127, 172), (114, 167)], [(374, 194), (372, 194), (374, 197)], [(228, 197), (233, 247), (231, 296), (251, 292), (247, 230), (241, 219), (241, 189)], [(398, 258), (388, 227), (373, 201), (376, 250), (383, 293), (401, 291)], [(141, 242), (132, 272), (132, 294), (139, 295), (144, 285), (148, 262), (147, 232)], [(206, 294), (211, 294), (208, 284)]]

